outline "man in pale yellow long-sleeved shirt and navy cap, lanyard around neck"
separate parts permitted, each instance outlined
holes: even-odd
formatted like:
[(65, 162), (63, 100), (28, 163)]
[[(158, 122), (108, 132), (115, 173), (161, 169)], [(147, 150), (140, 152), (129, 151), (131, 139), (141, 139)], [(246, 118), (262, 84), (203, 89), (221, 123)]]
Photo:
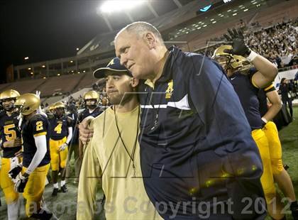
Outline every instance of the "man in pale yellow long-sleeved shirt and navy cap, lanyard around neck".
[(94, 77), (106, 78), (106, 92), (114, 105), (91, 123), (94, 134), (79, 176), (77, 219), (94, 219), (100, 181), (106, 196), (106, 219), (161, 219), (145, 192), (140, 170), (140, 107), (133, 94), (138, 80), (118, 58), (96, 70)]

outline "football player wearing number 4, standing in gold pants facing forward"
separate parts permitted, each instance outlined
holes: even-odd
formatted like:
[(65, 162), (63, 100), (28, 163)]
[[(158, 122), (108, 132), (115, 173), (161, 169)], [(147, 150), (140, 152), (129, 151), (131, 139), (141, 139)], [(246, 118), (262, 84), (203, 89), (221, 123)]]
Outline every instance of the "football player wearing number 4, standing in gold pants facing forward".
[(57, 102), (53, 107), (54, 114), (49, 116), (50, 121), (50, 164), (52, 167), (53, 193), (57, 196), (58, 173), (61, 174), (61, 191), (67, 192), (65, 184), (65, 166), (68, 154), (68, 145), (72, 140), (72, 119), (65, 115), (65, 104)]

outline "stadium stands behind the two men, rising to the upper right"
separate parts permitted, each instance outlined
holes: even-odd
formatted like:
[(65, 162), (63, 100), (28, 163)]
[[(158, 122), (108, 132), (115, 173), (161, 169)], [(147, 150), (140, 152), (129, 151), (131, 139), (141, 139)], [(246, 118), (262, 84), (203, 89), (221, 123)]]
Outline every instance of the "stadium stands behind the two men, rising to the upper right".
[[(284, 31), (283, 34), (288, 36), (294, 29), (287, 28), (284, 30), (282, 29), (283, 26), (282, 28), (278, 28), (275, 24), (289, 21), (291, 18), (294, 21), (294, 18), (298, 14), (298, 6), (295, 4), (295, 0), (233, 1), (232, 3), (229, 3), (228, 8), (223, 5), (222, 7), (215, 7), (207, 13), (196, 14), (201, 6), (200, 4), (202, 4), (202, 2), (192, 1), (189, 4), (182, 6), (180, 9), (175, 9), (158, 16), (158, 18), (153, 18), (150, 22), (160, 29), (167, 45), (170, 46), (175, 44), (184, 51), (194, 51), (210, 56), (214, 50), (212, 45), (218, 45), (216, 41), (224, 40), (222, 35), (223, 33), (226, 33), (227, 28), (245, 26), (245, 32), (249, 33), (246, 39), (248, 45), (258, 51), (258, 48), (254, 48), (253, 42), (262, 40), (261, 36), (264, 31), (266, 33), (272, 33), (272, 30), (275, 30), (275, 33), (273, 33), (274, 35), (279, 33), (278, 30), (282, 30)], [(233, 11), (231, 11), (231, 9), (233, 9)], [(238, 13), (236, 16), (234, 16), (235, 11)], [(295, 25), (297, 26), (297, 23), (295, 23)], [(276, 29), (278, 30), (276, 31)], [(92, 77), (92, 72), (96, 70), (96, 68), (105, 66), (111, 57), (114, 56), (113, 40), (115, 34), (116, 31), (100, 33), (79, 50), (76, 57), (62, 58), (61, 60), (63, 60), (63, 64), (57, 59), (57, 66), (64, 66), (64, 69), (62, 68), (62, 70), (59, 70), (49, 68), (49, 73), (46, 76), (46, 79), (33, 78), (30, 80), (1, 84), (0, 92), (8, 88), (17, 89), (21, 93), (40, 90), (42, 92), (41, 96), (44, 98), (45, 102), (52, 102), (59, 97), (62, 98), (62, 95), (65, 97), (80, 89), (91, 88), (92, 84), (95, 82)], [(266, 52), (266, 50), (265, 54), (262, 53), (262, 51), (258, 52), (265, 55), (265, 57), (274, 55), (275, 57), (272, 62), (277, 62), (280, 58), (282, 62), (278, 61), (277, 65), (279, 65), (279, 67), (295, 65), (297, 62), (290, 62), (291, 59), (285, 57), (285, 55), (289, 54), (293, 59), (298, 56), (298, 35), (296, 34), (292, 38), (296, 39), (296, 42), (294, 42), (292, 47), (288, 46), (292, 42), (288, 41), (287, 44), (285, 44), (285, 50), (291, 48), (288, 50), (290, 53), (276, 54), (274, 51), (269, 53), (270, 51)], [(48, 63), (54, 62), (55, 60), (48, 61)], [(40, 62), (36, 65), (40, 66), (42, 63), (45, 63), (46, 65), (46, 62)], [(18, 70), (21, 70), (22, 68), (23, 70), (26, 70), (28, 67), (28, 65), (18, 66)], [(45, 69), (47, 68), (43, 68), (43, 71), (45, 71)], [(61, 72), (61, 75), (57, 76), (59, 72)], [(38, 77), (38, 75), (34, 77)], [(43, 77), (43, 75), (40, 75), (39, 77)], [(54, 93), (58, 96), (53, 97)]]

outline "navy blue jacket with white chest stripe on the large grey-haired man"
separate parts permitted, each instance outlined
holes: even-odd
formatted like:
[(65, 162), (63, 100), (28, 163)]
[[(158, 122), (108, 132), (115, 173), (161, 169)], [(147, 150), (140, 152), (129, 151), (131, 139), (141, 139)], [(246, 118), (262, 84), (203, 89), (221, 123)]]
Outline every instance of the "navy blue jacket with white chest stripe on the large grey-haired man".
[[(265, 212), (255, 211), (263, 197), (260, 154), (221, 66), (172, 47), (162, 76), (149, 84), (139, 85), (140, 162), (150, 200), (165, 206), (160, 215), (169, 219), (178, 207), (177, 219), (206, 218), (190, 204), (210, 202), (217, 210), (216, 198), (231, 199), (233, 214), (225, 207), (209, 219), (262, 219)], [(243, 215), (245, 197), (256, 206)]]

